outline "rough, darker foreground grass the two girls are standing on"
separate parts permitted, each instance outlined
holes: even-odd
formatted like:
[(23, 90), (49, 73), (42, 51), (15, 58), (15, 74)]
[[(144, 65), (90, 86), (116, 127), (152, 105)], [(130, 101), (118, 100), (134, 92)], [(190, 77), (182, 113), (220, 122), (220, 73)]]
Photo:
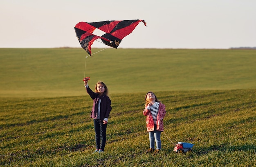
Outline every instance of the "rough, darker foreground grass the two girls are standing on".
[(162, 151), (149, 147), (145, 93), (112, 95), (107, 143), (95, 149), (88, 96), (1, 99), (2, 166), (208, 166), (256, 165), (256, 90), (156, 92), (166, 105), (164, 131), (174, 142), (195, 144), (177, 154), (162, 133)]

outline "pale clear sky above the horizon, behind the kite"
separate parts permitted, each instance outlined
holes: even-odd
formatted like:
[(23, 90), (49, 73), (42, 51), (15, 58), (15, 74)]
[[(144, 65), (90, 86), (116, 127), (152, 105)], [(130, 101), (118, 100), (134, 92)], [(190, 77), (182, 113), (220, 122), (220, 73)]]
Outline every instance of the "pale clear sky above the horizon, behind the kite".
[(1, 0), (0, 48), (81, 47), (78, 22), (137, 19), (119, 48), (256, 47), (256, 0)]

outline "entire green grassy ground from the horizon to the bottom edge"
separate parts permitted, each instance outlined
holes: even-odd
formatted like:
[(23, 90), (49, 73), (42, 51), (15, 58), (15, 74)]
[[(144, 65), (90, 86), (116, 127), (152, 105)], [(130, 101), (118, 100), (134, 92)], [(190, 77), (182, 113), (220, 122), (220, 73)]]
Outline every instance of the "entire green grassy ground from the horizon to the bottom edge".
[[(112, 100), (103, 154), (92, 154), (85, 51), (2, 48), (0, 61), (1, 166), (256, 166), (254, 50), (106, 49), (88, 57), (89, 84), (104, 81)], [(144, 153), (148, 91), (167, 111), (157, 156)], [(195, 144), (193, 152), (173, 152), (167, 137)]]

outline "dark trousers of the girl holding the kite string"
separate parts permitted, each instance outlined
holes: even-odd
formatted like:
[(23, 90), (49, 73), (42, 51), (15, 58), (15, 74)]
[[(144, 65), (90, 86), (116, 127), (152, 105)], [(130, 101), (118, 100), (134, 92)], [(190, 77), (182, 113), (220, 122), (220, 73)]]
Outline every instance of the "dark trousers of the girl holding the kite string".
[(99, 119), (94, 119), (96, 149), (102, 149), (102, 151), (104, 151), (106, 145), (106, 130), (107, 124), (103, 124), (103, 121)]

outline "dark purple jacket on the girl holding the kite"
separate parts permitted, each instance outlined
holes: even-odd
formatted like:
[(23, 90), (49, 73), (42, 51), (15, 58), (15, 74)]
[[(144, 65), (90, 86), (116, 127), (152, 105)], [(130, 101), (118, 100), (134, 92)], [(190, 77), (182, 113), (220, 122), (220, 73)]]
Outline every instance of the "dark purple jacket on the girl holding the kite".
[(98, 111), (98, 101), (99, 101), (99, 99), (101, 99), (100, 119), (101, 119), (101, 121), (103, 121), (104, 118), (108, 118), (108, 116), (110, 114), (110, 111), (112, 110), (110, 98), (105, 93), (102, 96), (99, 96), (99, 94), (93, 92), (90, 89), (90, 87), (86, 88), (86, 91), (87, 91), (87, 93), (90, 95), (90, 97), (93, 100), (91, 118), (92, 119), (97, 119), (97, 111)]

